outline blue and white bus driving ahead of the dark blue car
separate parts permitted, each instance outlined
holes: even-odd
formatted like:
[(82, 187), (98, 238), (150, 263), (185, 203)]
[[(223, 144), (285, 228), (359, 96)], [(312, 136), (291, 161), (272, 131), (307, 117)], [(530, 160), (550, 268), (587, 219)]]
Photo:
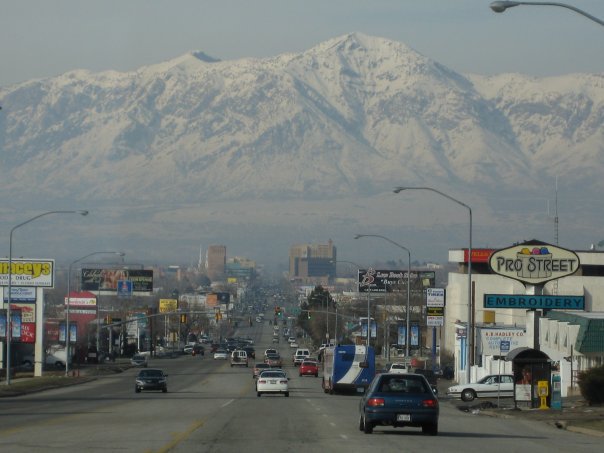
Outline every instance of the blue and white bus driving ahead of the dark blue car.
[(375, 352), (372, 347), (343, 345), (323, 351), (325, 393), (368, 387), (375, 376)]

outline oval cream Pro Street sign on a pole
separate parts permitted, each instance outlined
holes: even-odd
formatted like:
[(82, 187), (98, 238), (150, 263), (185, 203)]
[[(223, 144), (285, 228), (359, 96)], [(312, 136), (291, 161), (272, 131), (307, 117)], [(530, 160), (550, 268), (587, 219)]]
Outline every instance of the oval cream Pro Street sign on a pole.
[(529, 285), (572, 275), (580, 264), (575, 252), (536, 240), (497, 250), (489, 259), (494, 273)]

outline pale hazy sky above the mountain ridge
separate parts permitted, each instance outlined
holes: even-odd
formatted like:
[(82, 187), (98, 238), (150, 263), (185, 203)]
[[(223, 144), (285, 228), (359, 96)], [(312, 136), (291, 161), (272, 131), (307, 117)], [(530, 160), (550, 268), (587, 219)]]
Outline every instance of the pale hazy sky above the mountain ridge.
[[(461, 73), (604, 72), (604, 27), (565, 8), (491, 0), (0, 0), (0, 86), (72, 69), (127, 71), (192, 50), (299, 52), (362, 32)], [(604, 0), (571, 3), (604, 19)]]

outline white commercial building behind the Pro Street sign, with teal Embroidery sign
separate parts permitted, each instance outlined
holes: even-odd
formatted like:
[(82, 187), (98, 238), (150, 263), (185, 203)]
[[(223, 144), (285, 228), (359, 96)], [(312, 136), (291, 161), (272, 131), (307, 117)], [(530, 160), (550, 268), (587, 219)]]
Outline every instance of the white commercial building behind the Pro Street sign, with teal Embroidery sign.
[[(508, 347), (528, 347), (547, 354), (560, 373), (564, 395), (576, 387), (580, 371), (603, 364), (604, 252), (571, 252), (580, 262), (572, 274), (536, 286), (493, 273), (489, 260), (495, 252), (472, 251), (468, 342), (468, 251), (449, 251), (449, 262), (457, 264), (457, 271), (448, 276), (440, 341), (455, 356), (456, 379), (465, 382), (468, 356), (475, 380), (499, 370), (509, 372), (510, 363), (498, 359), (506, 356)], [(500, 348), (502, 340), (506, 351)]]

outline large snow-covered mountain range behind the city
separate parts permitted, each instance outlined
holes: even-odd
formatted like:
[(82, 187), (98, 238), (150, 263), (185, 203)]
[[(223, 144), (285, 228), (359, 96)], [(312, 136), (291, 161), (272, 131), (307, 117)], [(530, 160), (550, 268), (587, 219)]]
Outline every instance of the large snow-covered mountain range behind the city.
[[(464, 76), (358, 33), (269, 59), (192, 52), (127, 73), (72, 71), (2, 87), (0, 105), (0, 196), (9, 207), (40, 206), (44, 194), (143, 209), (149, 225), (161, 223), (153, 207), (178, 205), (186, 219), (192, 206), (215, 203), (213, 220), (189, 220), (224, 232), (248, 222), (233, 214), (229, 223), (226, 203), (268, 203), (248, 215), (290, 228), (309, 222), (292, 203), (323, 202), (326, 216), (335, 203), (341, 223), (375, 227), (385, 216), (355, 215), (358, 200), (375, 205), (394, 186), (428, 185), (492, 210), (490, 228), (493, 216), (519, 215), (506, 206), (550, 195), (555, 178), (576, 198), (604, 189), (604, 74)], [(271, 217), (279, 203), (298, 220)], [(320, 217), (324, 236), (298, 242), (335, 236)]]

